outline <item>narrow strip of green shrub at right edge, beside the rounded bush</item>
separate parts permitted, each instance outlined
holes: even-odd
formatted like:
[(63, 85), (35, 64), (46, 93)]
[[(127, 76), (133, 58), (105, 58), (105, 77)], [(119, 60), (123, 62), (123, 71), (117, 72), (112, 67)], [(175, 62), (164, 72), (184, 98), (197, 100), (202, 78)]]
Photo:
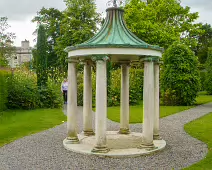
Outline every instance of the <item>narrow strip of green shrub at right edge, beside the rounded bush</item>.
[(212, 94), (212, 47), (208, 48), (208, 58), (206, 61), (206, 91)]

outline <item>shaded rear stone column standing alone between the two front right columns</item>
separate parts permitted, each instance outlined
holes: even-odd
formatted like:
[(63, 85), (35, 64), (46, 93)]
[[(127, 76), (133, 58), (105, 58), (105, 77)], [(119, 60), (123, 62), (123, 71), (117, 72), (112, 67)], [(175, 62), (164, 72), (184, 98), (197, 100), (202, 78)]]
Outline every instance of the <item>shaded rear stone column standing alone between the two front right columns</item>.
[(121, 64), (120, 134), (129, 134), (129, 62)]

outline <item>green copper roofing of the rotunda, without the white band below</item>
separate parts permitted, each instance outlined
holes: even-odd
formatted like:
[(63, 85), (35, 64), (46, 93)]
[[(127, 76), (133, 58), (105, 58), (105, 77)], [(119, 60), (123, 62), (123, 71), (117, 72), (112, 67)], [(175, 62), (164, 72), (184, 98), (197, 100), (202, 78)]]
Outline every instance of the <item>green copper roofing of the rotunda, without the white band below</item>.
[(101, 30), (90, 40), (74, 47), (68, 47), (67, 50), (100, 47), (149, 48), (159, 51), (163, 50), (159, 46), (145, 43), (127, 29), (123, 19), (123, 9), (112, 7), (108, 8), (106, 11), (107, 17)]

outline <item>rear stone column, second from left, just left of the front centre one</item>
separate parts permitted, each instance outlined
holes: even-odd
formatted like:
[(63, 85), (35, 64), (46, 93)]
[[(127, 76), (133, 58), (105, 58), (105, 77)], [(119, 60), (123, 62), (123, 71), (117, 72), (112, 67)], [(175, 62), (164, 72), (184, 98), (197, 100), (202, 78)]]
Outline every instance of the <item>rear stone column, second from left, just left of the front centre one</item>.
[(84, 90), (83, 90), (83, 133), (86, 136), (94, 135), (92, 128), (92, 79), (91, 61), (84, 63)]

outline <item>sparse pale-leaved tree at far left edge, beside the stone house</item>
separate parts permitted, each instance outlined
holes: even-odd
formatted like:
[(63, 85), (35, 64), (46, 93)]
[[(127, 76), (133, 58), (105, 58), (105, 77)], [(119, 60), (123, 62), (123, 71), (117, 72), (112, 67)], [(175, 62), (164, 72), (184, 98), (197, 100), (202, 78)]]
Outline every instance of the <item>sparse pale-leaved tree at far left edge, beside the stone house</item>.
[(15, 51), (12, 45), (15, 34), (7, 31), (9, 27), (7, 18), (0, 17), (0, 66), (7, 66)]

